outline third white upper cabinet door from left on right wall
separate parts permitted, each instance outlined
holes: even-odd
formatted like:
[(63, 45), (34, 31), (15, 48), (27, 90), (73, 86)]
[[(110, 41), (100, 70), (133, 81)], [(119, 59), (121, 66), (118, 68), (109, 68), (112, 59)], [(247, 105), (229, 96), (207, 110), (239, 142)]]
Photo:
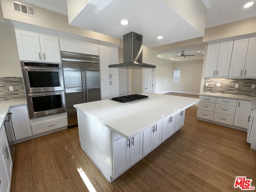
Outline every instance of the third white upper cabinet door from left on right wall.
[[(242, 77), (248, 48), (249, 38), (234, 40), (229, 77)], [(255, 76), (255, 74), (254, 74)]]

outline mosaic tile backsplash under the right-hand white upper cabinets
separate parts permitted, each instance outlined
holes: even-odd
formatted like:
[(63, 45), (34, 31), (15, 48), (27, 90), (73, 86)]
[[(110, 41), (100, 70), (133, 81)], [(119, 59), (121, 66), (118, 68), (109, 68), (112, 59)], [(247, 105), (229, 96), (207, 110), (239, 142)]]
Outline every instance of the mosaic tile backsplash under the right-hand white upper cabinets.
[[(205, 86), (207, 82), (208, 87)], [(221, 83), (221, 86), (216, 87), (216, 83)], [(236, 84), (239, 84), (238, 88), (235, 88)], [(256, 84), (256, 79), (206, 78), (204, 79), (204, 92), (256, 97), (256, 89), (251, 88), (252, 84)]]

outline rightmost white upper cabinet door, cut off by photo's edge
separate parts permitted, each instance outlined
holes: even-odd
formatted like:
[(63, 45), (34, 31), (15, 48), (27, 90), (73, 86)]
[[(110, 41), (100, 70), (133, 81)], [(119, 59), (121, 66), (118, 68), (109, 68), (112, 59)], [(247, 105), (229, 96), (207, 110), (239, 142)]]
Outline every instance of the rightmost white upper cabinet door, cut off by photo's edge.
[(244, 76), (256, 76), (256, 36), (250, 37), (244, 66)]

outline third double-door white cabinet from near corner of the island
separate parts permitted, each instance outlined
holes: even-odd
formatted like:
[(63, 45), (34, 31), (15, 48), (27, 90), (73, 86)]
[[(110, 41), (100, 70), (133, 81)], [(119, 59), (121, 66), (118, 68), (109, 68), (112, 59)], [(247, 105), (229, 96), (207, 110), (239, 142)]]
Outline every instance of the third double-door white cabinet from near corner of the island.
[(162, 122), (162, 142), (174, 134), (175, 117), (168, 117)]

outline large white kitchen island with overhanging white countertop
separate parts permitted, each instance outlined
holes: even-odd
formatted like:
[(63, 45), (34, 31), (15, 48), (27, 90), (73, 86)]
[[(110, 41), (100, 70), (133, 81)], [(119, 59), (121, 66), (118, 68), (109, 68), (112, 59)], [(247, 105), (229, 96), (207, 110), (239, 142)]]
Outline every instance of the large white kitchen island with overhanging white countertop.
[(180, 129), (185, 109), (200, 99), (145, 93), (127, 103), (76, 104), (81, 148), (109, 182)]

